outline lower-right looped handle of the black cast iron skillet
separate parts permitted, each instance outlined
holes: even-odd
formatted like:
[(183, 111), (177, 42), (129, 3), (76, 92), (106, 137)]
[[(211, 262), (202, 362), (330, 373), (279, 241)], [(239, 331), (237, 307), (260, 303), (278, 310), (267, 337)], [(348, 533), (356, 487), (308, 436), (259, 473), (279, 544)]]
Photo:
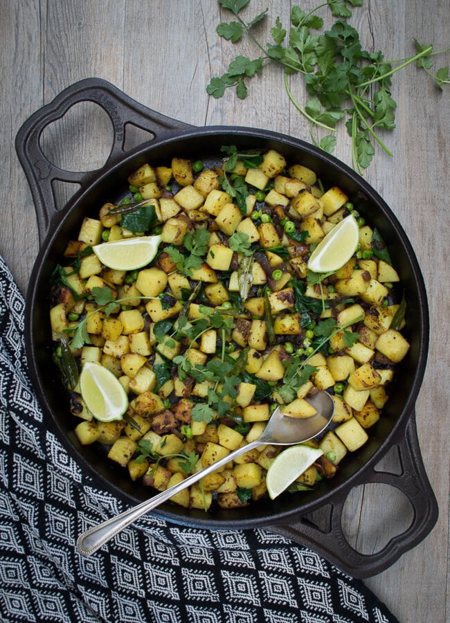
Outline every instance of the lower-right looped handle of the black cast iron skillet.
[(315, 550), (325, 559), (352, 577), (363, 579), (376, 575), (393, 565), (399, 557), (423, 541), (438, 520), (438, 503), (426, 476), (414, 413), (406, 426), (406, 434), (399, 441), (399, 459), (402, 473), (372, 470), (363, 479), (364, 484), (382, 483), (397, 487), (406, 495), (413, 507), (413, 521), (401, 534), (397, 534), (375, 554), (361, 554), (348, 543), (342, 529), (342, 514), (345, 499), (331, 505), (330, 530), (323, 532), (305, 517), (295, 526), (273, 525), (269, 530), (288, 536)]

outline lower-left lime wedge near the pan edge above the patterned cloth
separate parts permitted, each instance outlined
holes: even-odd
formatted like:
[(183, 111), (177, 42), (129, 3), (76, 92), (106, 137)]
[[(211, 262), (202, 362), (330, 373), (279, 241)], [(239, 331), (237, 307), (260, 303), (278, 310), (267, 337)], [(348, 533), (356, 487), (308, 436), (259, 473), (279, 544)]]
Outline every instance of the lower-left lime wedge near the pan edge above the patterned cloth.
[(118, 379), (100, 363), (84, 363), (80, 374), (82, 399), (100, 422), (122, 419), (128, 407), (127, 394)]

